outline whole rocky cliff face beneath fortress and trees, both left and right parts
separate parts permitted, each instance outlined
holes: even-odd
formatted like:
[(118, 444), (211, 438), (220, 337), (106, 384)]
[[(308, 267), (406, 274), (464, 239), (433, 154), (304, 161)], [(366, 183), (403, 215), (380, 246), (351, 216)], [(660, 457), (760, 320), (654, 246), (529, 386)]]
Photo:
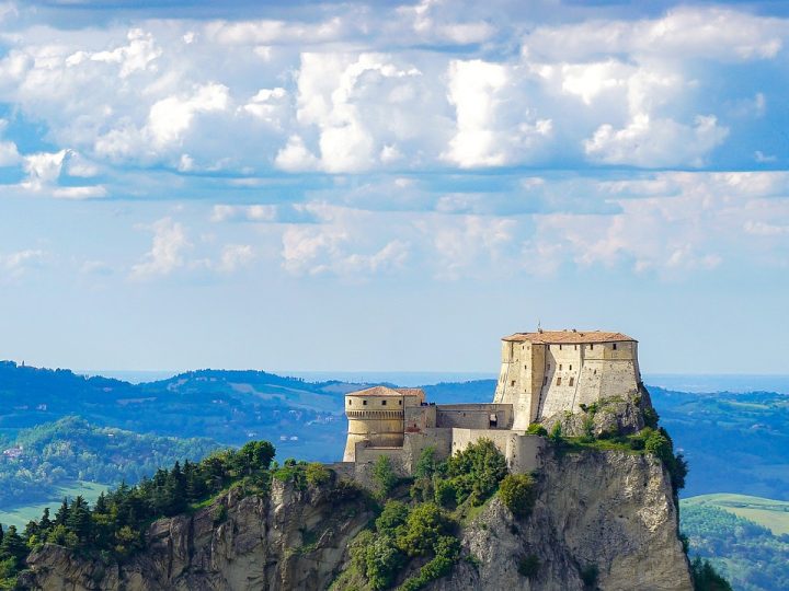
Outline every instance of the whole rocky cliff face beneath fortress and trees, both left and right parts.
[[(46, 546), (24, 581), (46, 591), (325, 589), (370, 517), (353, 493), (275, 482), (267, 499), (229, 494), (192, 517), (156, 522), (147, 549), (119, 568)], [(431, 589), (689, 591), (676, 526), (658, 460), (549, 450), (531, 515), (515, 519), (493, 498), (460, 532), (467, 559)]]

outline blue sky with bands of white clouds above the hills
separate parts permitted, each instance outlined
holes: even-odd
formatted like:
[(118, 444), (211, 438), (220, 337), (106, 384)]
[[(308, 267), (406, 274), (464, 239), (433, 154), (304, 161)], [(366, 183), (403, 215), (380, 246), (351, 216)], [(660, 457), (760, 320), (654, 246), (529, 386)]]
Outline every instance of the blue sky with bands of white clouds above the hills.
[(0, 359), (789, 373), (785, 2), (0, 0)]

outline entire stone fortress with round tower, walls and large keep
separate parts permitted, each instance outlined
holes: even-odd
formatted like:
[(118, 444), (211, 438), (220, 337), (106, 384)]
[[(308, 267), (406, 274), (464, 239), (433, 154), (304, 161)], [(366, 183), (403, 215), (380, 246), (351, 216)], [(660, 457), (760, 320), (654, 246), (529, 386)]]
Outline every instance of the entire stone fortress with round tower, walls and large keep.
[(412, 474), (422, 450), (447, 457), (490, 439), (512, 472), (539, 465), (545, 440), (533, 424), (550, 424), (602, 401), (633, 401), (643, 392), (638, 343), (621, 333), (538, 331), (502, 339), (502, 364), (491, 404), (435, 405), (420, 389), (375, 386), (345, 395), (348, 419), (343, 463), (365, 479), (381, 455)]

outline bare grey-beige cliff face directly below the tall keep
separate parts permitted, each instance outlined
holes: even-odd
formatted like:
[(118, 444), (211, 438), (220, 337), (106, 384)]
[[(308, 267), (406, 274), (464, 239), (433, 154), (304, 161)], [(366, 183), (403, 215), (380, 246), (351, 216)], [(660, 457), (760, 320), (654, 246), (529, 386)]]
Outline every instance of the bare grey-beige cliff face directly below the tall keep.
[[(659, 461), (614, 451), (551, 454), (531, 515), (517, 520), (494, 498), (462, 534), (477, 559), (435, 589), (689, 591), (677, 519)], [(526, 577), (518, 566), (529, 558)]]

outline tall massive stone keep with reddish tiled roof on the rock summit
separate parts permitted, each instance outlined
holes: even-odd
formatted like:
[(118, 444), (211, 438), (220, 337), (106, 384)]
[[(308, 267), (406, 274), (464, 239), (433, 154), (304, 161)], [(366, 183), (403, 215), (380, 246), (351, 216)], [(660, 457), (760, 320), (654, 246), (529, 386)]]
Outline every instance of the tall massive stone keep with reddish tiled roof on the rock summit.
[(494, 403), (512, 404), (513, 429), (601, 398), (639, 391), (638, 341), (621, 333), (538, 331), (502, 339)]

